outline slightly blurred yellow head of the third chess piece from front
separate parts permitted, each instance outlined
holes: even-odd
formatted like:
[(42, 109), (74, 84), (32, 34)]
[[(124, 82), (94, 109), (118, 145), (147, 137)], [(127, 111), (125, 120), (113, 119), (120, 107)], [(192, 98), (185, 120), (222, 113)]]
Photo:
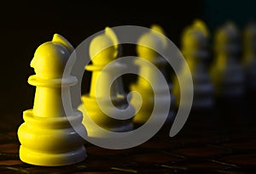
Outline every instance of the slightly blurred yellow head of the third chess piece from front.
[(159, 50), (167, 47), (166, 36), (160, 25), (152, 25), (151, 31), (143, 34), (137, 42), (137, 54), (144, 59), (154, 59)]

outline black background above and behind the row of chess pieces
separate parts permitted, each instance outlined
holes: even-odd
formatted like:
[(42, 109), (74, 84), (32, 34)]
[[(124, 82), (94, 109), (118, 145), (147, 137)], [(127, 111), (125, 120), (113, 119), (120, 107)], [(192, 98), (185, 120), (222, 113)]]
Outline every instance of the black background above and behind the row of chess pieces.
[[(170, 4), (169, 4), (170, 3)], [(39, 1), (1, 3), (1, 86), (0, 116), (21, 119), (22, 111), (32, 108), (35, 87), (27, 83), (34, 72), (33, 53), (54, 33), (65, 36), (74, 47), (107, 25), (159, 24), (179, 46), (186, 25), (199, 18), (214, 31), (226, 20), (240, 29), (256, 17), (253, 1)]]

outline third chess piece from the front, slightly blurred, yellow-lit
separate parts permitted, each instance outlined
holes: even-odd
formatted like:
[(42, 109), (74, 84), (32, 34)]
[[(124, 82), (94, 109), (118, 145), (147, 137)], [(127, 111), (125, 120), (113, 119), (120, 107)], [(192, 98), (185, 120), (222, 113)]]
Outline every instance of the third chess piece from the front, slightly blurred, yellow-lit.
[[(161, 50), (162, 52), (165, 51), (167, 48), (167, 41), (166, 37), (164, 36), (165, 33), (163, 29), (160, 27), (160, 25), (152, 25), (151, 31), (148, 31), (147, 33), (144, 33), (143, 36), (141, 36), (137, 42), (137, 55), (139, 58), (146, 59), (150, 61), (154, 66), (157, 67), (158, 70), (162, 73), (163, 76), (166, 77), (169, 76), (166, 72), (166, 66), (168, 65), (166, 59), (164, 59), (160, 53), (157, 51)], [(143, 45), (148, 45), (148, 47), (145, 47)], [(133, 62), (134, 65), (137, 65), (138, 67), (138, 74), (145, 75), (144, 78), (142, 76), (137, 77), (137, 81), (133, 84), (131, 84), (131, 91), (137, 91), (137, 93), (140, 93), (143, 99), (142, 106), (140, 110), (138, 111), (137, 115), (134, 116), (133, 121), (138, 124), (142, 125), (146, 121), (148, 121), (150, 115), (152, 114), (153, 108), (154, 108), (154, 95), (160, 95), (161, 103), (165, 103), (167, 98), (170, 98), (169, 95), (166, 93), (162, 93), (164, 91), (164, 85), (157, 83), (158, 74), (154, 72), (153, 69), (151, 69), (148, 65), (141, 65), (141, 61), (135, 60)], [(151, 81), (154, 83), (156, 90), (153, 92), (153, 89), (148, 81)], [(174, 97), (172, 96), (172, 82), (167, 81), (170, 93), (171, 93), (171, 104), (174, 101)], [(139, 102), (131, 98), (131, 104), (137, 106)], [(174, 115), (173, 108), (171, 105), (170, 108), (170, 114), (168, 115), (168, 120), (172, 121), (172, 117)]]

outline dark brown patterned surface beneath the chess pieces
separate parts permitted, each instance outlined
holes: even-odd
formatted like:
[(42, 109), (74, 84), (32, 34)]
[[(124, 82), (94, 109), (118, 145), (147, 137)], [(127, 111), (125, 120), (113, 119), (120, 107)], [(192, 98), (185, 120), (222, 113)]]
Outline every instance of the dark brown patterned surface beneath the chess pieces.
[(169, 124), (136, 148), (110, 150), (86, 143), (86, 160), (61, 167), (22, 163), (16, 135), (20, 122), (5, 115), (0, 123), (0, 173), (255, 173), (254, 113), (253, 104), (245, 108), (223, 104), (211, 112), (192, 111), (174, 138), (168, 137)]

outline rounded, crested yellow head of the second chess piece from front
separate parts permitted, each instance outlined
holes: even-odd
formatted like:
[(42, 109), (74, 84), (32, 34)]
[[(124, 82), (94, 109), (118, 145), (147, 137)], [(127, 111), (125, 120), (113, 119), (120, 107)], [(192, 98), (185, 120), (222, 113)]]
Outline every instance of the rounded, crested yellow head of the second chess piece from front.
[(118, 38), (109, 27), (105, 33), (96, 36), (90, 42), (90, 59), (94, 65), (107, 65), (118, 55)]

